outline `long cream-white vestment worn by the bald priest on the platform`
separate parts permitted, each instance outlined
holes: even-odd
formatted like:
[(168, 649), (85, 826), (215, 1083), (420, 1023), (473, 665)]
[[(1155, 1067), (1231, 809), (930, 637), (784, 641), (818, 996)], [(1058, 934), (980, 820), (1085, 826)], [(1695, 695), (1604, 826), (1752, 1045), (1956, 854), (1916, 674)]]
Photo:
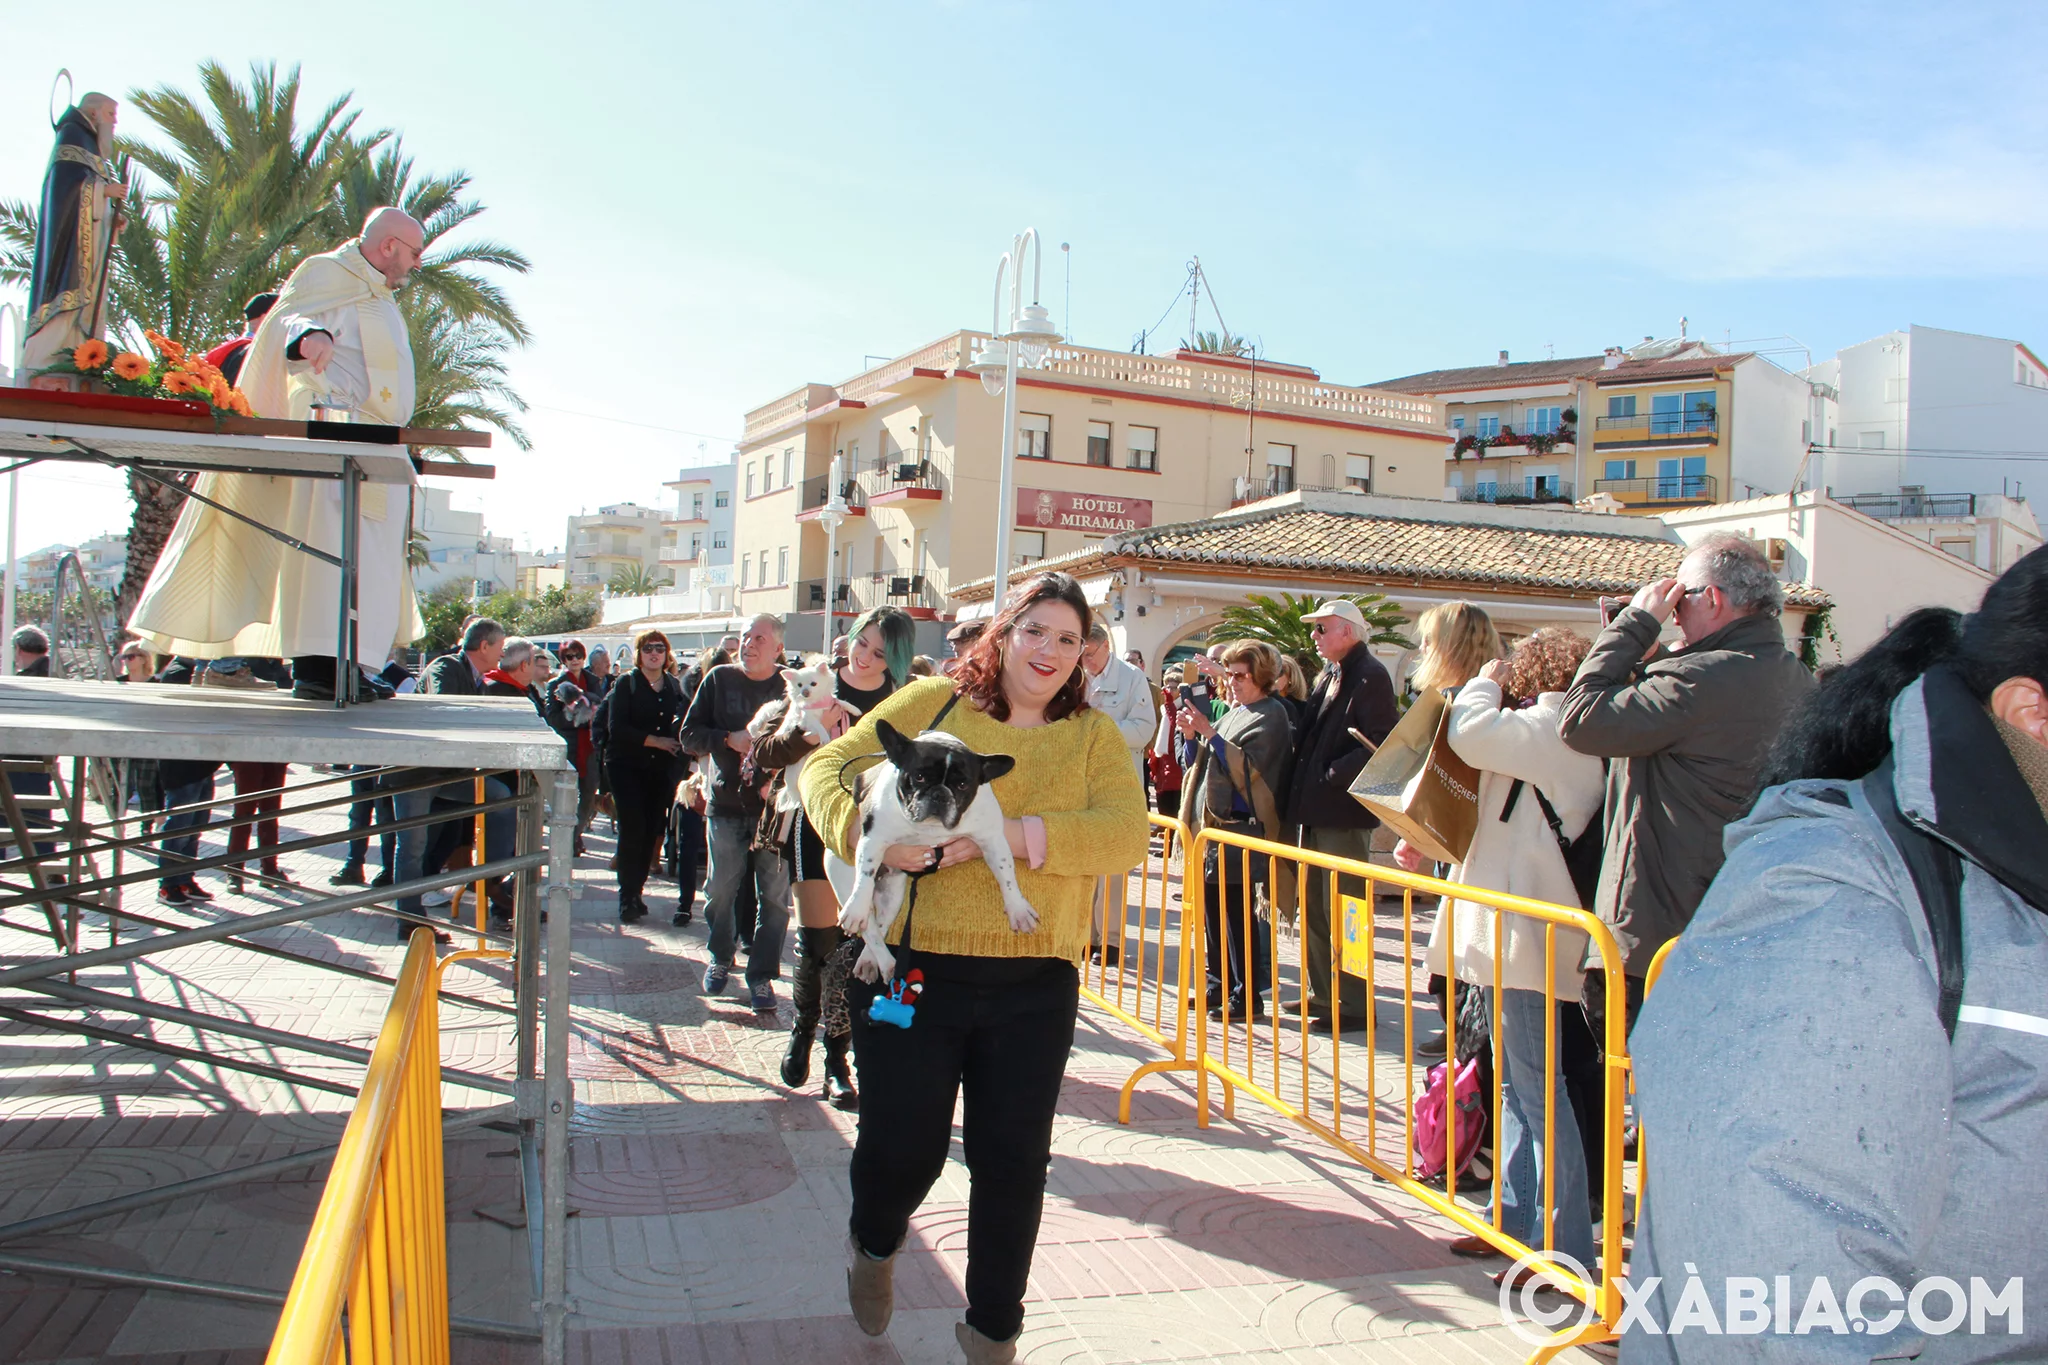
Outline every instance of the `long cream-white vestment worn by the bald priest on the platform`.
[[(285, 348), (305, 329), (334, 338), (326, 375)], [(406, 426), (414, 372), (406, 317), (358, 244), (305, 260), (256, 329), (242, 362), (242, 393), (258, 417), (303, 420), (315, 401), (362, 420)], [(342, 489), (336, 479), (201, 475), (195, 493), (246, 518), (340, 555)], [(360, 485), (356, 536), (356, 659), (383, 665), (393, 645), (426, 634), (406, 551), (410, 487)], [(160, 653), (193, 659), (334, 655), (340, 569), (254, 526), (188, 499), (129, 620)]]

